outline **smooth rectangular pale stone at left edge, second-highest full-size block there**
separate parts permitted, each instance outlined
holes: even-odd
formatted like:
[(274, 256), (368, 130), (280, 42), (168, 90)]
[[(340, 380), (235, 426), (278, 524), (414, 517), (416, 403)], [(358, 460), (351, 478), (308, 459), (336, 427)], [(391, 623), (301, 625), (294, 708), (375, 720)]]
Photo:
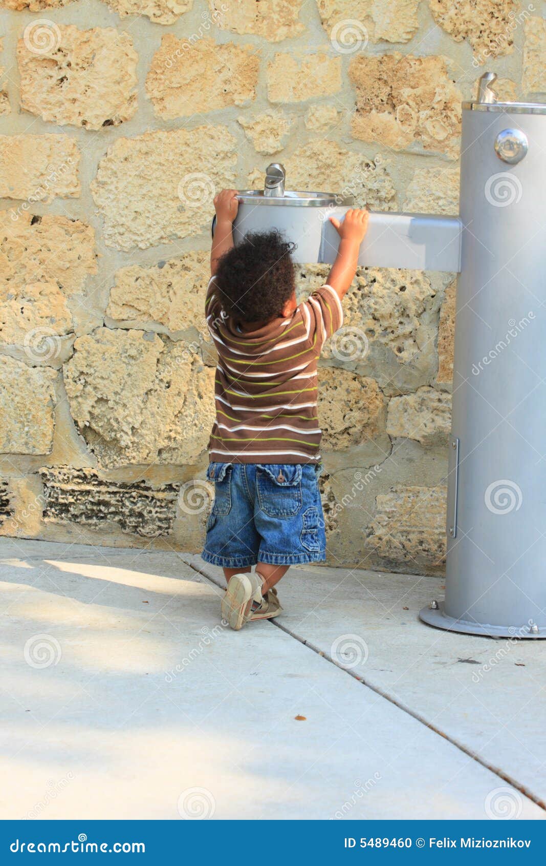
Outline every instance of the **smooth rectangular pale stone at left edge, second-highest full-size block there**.
[(67, 135), (0, 135), (0, 198), (80, 195), (80, 149)]

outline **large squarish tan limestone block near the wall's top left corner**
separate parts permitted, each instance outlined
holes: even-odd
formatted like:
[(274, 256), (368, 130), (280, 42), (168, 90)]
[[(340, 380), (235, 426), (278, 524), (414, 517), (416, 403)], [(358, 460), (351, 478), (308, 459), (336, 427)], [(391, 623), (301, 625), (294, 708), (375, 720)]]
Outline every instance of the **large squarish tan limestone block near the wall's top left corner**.
[(35, 23), (17, 43), (21, 107), (58, 124), (118, 126), (137, 111), (132, 38), (113, 27)]

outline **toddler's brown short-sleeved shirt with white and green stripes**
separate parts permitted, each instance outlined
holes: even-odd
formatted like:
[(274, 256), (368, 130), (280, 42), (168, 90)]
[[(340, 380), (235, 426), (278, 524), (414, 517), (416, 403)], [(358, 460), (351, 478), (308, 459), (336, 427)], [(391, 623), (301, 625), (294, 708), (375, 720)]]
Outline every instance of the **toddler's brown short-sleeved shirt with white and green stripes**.
[(255, 331), (224, 313), (214, 277), (205, 308), (218, 352), (210, 461), (318, 462), (317, 361), (343, 323), (334, 289), (319, 288), (289, 318)]

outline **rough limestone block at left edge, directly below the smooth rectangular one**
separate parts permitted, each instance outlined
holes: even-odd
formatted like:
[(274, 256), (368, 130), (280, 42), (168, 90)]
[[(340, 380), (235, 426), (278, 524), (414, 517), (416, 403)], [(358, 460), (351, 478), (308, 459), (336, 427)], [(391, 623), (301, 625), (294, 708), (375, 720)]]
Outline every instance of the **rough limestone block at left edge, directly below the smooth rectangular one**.
[[(97, 273), (94, 231), (66, 216), (0, 210), (0, 286), (16, 292), (29, 282), (55, 282), (63, 294), (82, 292)], [(5, 300), (5, 293), (1, 295)]]

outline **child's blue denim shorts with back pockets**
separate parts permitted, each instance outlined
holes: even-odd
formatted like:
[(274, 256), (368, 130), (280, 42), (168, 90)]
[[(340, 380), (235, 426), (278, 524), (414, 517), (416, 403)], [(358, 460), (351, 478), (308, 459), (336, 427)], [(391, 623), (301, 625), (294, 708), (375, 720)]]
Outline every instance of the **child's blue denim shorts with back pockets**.
[(222, 568), (326, 559), (318, 476), (301, 463), (210, 463), (215, 501), (201, 554)]

